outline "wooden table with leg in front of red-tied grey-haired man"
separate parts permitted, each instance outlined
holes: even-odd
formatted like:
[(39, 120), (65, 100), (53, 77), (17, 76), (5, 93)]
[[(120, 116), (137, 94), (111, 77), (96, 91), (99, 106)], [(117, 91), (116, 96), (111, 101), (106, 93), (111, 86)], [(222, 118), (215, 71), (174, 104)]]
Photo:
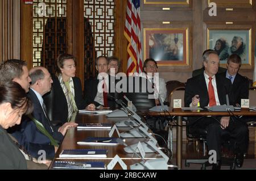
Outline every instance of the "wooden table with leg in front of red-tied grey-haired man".
[(162, 112), (141, 112), (150, 116), (177, 116), (177, 132), (176, 132), (176, 165), (182, 169), (182, 117), (188, 116), (256, 116), (256, 111), (249, 108), (242, 108), (240, 111), (232, 112), (213, 112), (207, 110), (182, 110), (181, 108), (169, 107), (169, 110)]

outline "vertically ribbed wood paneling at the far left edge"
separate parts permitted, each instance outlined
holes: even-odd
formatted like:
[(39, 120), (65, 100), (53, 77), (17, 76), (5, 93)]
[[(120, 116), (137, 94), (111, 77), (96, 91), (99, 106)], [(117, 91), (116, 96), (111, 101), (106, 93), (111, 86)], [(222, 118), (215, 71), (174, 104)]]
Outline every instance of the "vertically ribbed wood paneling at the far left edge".
[(20, 1), (0, 1), (0, 63), (20, 58)]

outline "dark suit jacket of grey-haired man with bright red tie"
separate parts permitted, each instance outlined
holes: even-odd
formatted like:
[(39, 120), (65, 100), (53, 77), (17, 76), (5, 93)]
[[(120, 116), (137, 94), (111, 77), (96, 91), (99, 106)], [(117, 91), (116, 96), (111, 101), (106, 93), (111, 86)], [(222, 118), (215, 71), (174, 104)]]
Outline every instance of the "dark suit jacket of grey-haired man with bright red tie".
[[(229, 79), (216, 75), (216, 86), (218, 92), (218, 99), (220, 104), (226, 104), (226, 94), (229, 95), (229, 103), (233, 104), (232, 97), (230, 96), (231, 91), (231, 82)], [(188, 79), (185, 87), (185, 96), (184, 103), (185, 107), (189, 107), (189, 104), (192, 102), (192, 98), (195, 95), (199, 95), (200, 98), (200, 107), (208, 106), (209, 104), (209, 95), (207, 90), (207, 85), (205, 82), (204, 74), (197, 75)]]

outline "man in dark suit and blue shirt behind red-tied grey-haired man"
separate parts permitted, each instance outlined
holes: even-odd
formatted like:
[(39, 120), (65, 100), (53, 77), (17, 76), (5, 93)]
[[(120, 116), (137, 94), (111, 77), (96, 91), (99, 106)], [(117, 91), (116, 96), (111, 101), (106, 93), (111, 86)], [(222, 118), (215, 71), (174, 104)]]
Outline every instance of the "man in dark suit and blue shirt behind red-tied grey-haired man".
[(224, 73), (220, 73), (220, 75), (230, 79), (232, 82), (231, 93), (234, 100), (234, 106), (240, 106), (241, 99), (248, 99), (249, 97), (249, 81), (238, 74), (238, 70), (241, 67), (240, 56), (237, 54), (230, 55), (226, 67), (228, 70)]

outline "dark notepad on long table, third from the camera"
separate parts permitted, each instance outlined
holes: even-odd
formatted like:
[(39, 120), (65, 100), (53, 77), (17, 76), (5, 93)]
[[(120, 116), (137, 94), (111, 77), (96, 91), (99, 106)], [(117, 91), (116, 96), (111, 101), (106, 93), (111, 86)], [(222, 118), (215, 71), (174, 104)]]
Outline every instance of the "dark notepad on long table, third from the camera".
[(78, 141), (79, 145), (118, 145), (117, 138), (114, 137), (87, 137)]

